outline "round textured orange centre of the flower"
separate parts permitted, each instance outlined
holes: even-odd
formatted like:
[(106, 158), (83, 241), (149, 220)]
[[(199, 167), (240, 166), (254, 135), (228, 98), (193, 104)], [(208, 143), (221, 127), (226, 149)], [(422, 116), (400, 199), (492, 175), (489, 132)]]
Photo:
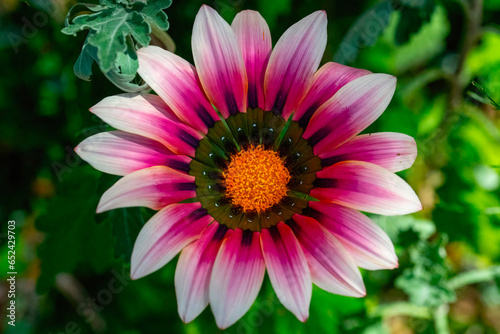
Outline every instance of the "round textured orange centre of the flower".
[(223, 173), (226, 195), (245, 212), (263, 212), (286, 196), (290, 173), (277, 152), (261, 145), (232, 155)]

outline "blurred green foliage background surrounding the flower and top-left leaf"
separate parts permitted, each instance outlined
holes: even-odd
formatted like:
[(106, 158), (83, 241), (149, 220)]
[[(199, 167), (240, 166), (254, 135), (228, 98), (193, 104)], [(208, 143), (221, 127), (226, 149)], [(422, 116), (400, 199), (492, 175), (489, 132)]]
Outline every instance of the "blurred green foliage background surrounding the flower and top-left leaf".
[[(92, 2), (92, 1), (87, 1)], [(176, 53), (192, 62), (203, 2), (166, 10)], [(398, 77), (395, 97), (367, 132), (416, 138), (415, 165), (399, 173), (424, 210), (372, 218), (396, 245), (400, 267), (363, 271), (367, 296), (314, 289), (300, 323), (266, 278), (252, 309), (220, 331), (210, 309), (177, 315), (176, 260), (128, 278), (133, 241), (151, 212), (95, 214), (116, 180), (74, 153), (107, 126), (88, 109), (120, 92), (94, 67), (73, 73), (85, 33), (63, 35), (72, 0), (0, 2), (0, 332), (5, 333), (499, 333), (500, 0), (215, 0), (230, 22), (259, 10), (273, 41), (314, 10), (328, 15), (323, 62)], [(475, 82), (475, 84), (473, 84)], [(16, 221), (16, 326), (7, 325), (7, 221)]]

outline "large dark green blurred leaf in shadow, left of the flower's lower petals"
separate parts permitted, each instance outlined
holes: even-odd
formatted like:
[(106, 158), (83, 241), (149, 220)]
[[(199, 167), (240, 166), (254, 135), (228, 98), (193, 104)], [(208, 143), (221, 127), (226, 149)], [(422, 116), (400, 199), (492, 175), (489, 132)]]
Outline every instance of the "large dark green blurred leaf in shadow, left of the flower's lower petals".
[(90, 268), (102, 272), (114, 263), (111, 227), (95, 222), (99, 172), (91, 166), (76, 167), (62, 179), (47, 214), (36, 222), (46, 233), (38, 248), (41, 275), (37, 290), (47, 292), (60, 272)]

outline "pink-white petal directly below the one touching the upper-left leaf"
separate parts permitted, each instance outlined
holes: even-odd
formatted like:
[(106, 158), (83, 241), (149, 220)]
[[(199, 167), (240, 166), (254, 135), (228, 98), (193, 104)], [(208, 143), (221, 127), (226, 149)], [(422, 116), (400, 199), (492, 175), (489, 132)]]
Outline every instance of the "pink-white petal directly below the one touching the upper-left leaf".
[(110, 96), (90, 109), (118, 130), (156, 140), (174, 153), (194, 155), (202, 136), (181, 123), (156, 95)]

